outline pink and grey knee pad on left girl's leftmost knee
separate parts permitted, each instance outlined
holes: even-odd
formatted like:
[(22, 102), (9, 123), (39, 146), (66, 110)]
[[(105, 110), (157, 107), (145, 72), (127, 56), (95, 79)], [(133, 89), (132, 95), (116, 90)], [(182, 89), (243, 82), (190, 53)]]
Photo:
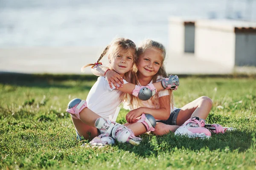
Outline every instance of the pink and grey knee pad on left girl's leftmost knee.
[(79, 113), (87, 108), (87, 103), (85, 100), (81, 100), (78, 98), (72, 99), (67, 105), (67, 113), (70, 113), (74, 119), (80, 119)]

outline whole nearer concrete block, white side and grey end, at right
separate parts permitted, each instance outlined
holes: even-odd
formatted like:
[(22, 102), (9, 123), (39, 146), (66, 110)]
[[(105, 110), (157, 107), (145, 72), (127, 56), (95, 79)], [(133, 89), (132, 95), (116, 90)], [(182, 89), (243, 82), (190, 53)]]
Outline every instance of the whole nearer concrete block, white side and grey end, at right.
[(256, 66), (256, 23), (238, 20), (200, 20), (195, 24), (195, 56), (235, 65)]

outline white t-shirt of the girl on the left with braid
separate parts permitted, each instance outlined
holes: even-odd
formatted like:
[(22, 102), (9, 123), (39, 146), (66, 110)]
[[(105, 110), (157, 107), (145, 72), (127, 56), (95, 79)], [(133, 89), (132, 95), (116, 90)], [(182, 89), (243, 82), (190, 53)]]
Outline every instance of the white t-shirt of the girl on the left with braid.
[[(128, 83), (123, 79), (124, 83)], [(109, 87), (108, 81), (104, 77), (99, 77), (87, 96), (87, 107), (105, 119), (109, 119), (109, 115), (113, 117), (116, 108), (122, 102), (120, 97), (122, 92), (114, 90), (115, 86)]]

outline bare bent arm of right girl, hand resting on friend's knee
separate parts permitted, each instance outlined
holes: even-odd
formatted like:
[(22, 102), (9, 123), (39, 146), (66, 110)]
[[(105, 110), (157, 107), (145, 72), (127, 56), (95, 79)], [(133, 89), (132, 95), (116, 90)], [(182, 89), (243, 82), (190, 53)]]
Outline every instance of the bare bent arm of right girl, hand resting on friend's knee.
[(132, 111), (130, 111), (126, 115), (126, 120), (128, 123), (135, 123), (137, 122), (137, 118), (140, 117), (143, 113), (148, 113), (154, 116), (155, 119), (159, 120), (167, 120), (171, 113), (171, 105), (170, 105), (170, 96), (162, 96), (159, 98), (159, 109), (153, 109), (153, 108), (137, 108)]

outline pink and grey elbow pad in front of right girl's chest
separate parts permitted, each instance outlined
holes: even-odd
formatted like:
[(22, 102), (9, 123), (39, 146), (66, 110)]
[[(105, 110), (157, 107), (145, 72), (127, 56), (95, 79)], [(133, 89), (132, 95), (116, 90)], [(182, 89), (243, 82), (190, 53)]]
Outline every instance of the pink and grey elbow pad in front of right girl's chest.
[(138, 97), (141, 100), (148, 100), (157, 93), (157, 89), (153, 84), (148, 84), (147, 86), (135, 85), (132, 95)]

